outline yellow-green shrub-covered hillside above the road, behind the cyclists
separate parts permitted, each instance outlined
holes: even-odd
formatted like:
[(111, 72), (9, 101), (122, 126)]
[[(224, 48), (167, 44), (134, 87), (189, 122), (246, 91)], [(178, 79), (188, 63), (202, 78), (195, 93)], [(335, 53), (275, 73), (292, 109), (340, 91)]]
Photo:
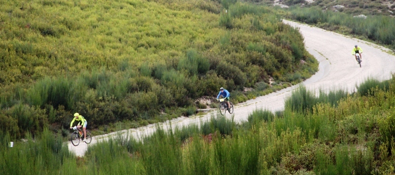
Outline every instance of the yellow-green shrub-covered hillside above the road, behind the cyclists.
[(236, 0), (5, 0), (0, 38), (0, 135), (14, 138), (66, 136), (75, 112), (103, 132), (141, 126), (220, 87), (243, 102), (317, 70), (297, 29)]

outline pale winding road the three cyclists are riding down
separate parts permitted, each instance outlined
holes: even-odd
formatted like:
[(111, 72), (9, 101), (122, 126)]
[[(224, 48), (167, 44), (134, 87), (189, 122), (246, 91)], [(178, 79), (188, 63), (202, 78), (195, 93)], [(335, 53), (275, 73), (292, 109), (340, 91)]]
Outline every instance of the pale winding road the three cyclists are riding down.
[[(286, 20), (283, 20), (283, 22), (300, 29), (300, 32), (305, 38), (306, 49), (319, 61), (319, 71), (310, 79), (303, 82), (309, 90), (317, 92), (318, 89), (325, 91), (345, 89), (353, 92), (356, 91), (356, 86), (366, 78), (390, 79), (391, 72), (395, 71), (395, 56), (389, 54), (389, 49), (316, 27)], [(362, 68), (359, 68), (354, 56), (351, 55), (351, 51), (356, 44), (363, 49)], [(271, 111), (283, 110), (284, 99), (289, 97), (291, 91), (297, 87), (289, 87), (235, 106), (235, 121), (246, 121), (248, 115), (257, 108)], [(211, 116), (216, 114), (217, 112), (211, 112), (201, 116), (179, 117), (165, 123), (159, 123), (158, 125), (165, 130), (170, 127), (181, 128), (190, 124), (199, 125), (202, 122), (208, 121)], [(231, 118), (232, 116), (228, 113), (227, 117)], [(156, 127), (157, 124), (152, 124), (137, 129), (96, 136), (93, 137), (90, 145), (117, 136), (129, 136), (140, 139), (152, 134)], [(69, 141), (68, 146), (78, 156), (83, 156), (87, 149), (87, 144), (83, 142), (79, 146), (73, 146)]]

